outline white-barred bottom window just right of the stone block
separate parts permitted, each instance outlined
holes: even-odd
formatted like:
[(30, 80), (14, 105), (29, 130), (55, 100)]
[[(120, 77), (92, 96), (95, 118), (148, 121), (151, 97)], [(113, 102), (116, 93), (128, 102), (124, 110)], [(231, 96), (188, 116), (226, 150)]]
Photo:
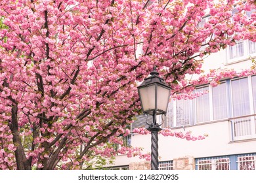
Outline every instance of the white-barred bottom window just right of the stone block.
[(198, 170), (230, 170), (230, 159), (228, 157), (199, 158), (196, 161)]

